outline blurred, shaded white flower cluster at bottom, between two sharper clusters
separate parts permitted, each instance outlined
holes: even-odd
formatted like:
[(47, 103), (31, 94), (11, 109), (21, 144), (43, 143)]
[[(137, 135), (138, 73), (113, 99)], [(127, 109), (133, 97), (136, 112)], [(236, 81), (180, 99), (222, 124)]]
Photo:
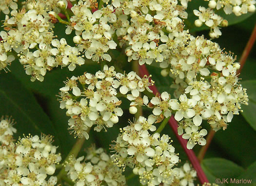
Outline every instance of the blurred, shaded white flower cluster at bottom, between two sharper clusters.
[[(81, 162), (84, 159), (83, 162)], [(122, 170), (113, 163), (102, 148), (87, 149), (87, 156), (76, 159), (73, 155), (64, 164), (75, 186), (125, 186)]]

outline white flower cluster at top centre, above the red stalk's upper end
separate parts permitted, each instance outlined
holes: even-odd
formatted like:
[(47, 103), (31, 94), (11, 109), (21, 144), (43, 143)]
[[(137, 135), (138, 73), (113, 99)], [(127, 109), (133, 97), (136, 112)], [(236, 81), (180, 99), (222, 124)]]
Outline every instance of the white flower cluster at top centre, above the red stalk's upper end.
[[(127, 43), (125, 50), (128, 61), (138, 60), (139, 64), (161, 62), (169, 58), (170, 49), (186, 40), (183, 23), (179, 18), (187, 18), (184, 8), (175, 0), (139, 1), (120, 3), (125, 15), (131, 17), (129, 25), (124, 26), (119, 35), (119, 43)], [(118, 17), (125, 22), (127, 16)], [(164, 32), (165, 31), (165, 32)]]

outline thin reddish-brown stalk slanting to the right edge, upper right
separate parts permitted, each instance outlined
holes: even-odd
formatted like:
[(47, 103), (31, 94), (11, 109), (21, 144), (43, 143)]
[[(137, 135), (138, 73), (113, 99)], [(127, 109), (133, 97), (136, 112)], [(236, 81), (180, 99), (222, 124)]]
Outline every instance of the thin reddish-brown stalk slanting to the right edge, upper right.
[(254, 26), (254, 30), (251, 34), (251, 37), (249, 38), (247, 44), (246, 44), (246, 47), (244, 48), (243, 50), (243, 53), (242, 53), (242, 56), (239, 60), (239, 63), (240, 63), (240, 68), (239, 70), (236, 72), (236, 74), (240, 74), (242, 69), (243, 69), (243, 66), (245, 64), (245, 61), (247, 59), (247, 57), (249, 56), (251, 50), (252, 50), (252, 47), (254, 46), (254, 42), (256, 40), (256, 24)]

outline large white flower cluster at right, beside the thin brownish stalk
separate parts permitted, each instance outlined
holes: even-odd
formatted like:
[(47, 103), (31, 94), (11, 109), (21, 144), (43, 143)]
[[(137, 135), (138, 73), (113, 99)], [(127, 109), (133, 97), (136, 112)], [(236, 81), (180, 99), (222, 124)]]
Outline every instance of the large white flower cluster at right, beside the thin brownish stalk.
[(235, 63), (236, 57), (203, 37), (191, 37), (182, 48), (169, 63), (160, 64), (174, 78), (171, 87), (176, 88), (179, 98), (171, 104), (175, 119), (192, 118), (197, 127), (207, 120), (214, 130), (225, 130), (226, 123), (239, 114), (241, 104), (248, 104), (246, 89), (238, 84), (236, 71), (240, 65)]

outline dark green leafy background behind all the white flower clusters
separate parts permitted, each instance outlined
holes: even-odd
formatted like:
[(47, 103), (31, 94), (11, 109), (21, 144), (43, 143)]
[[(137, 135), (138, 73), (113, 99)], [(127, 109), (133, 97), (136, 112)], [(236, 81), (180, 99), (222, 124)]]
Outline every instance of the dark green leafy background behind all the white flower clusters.
[[(196, 17), (192, 14), (193, 9), (199, 7), (199, 5), (205, 4), (202, 0), (192, 0), (188, 5), (189, 18), (185, 20), (187, 29), (190, 29), (191, 34), (194, 36), (204, 35), (208, 37), (209, 30), (205, 30), (206, 27), (197, 28), (194, 25)], [(207, 6), (207, 3), (206, 3)], [(256, 13), (247, 14), (237, 18), (235, 15), (226, 16), (223, 12), (219, 12), (229, 21), (230, 26), (222, 28), (222, 36), (214, 39), (214, 42), (219, 43), (221, 48), (225, 48), (225, 51), (232, 51), (237, 56), (239, 61), (241, 54), (246, 46), (246, 43), (251, 35), (251, 32), (256, 24)], [(192, 15), (192, 16), (191, 16)], [(1, 19), (3, 15), (1, 14)], [(72, 35), (65, 36), (65, 26), (57, 23), (55, 28), (55, 34), (60, 39), (65, 37), (70, 45), (74, 45), (72, 41)], [(73, 43), (73, 44), (72, 44)], [(121, 54), (115, 52), (116, 59), (114, 62), (122, 69), (129, 72), (131, 65), (126, 63), (126, 57), (120, 58)], [(112, 62), (113, 63), (113, 62)], [(109, 64), (111, 65), (111, 63)], [(162, 77), (160, 75), (160, 68), (148, 66), (149, 72), (152, 74), (152, 78), (158, 87), (160, 92), (167, 91), (173, 93), (170, 88), (172, 79), (170, 77)], [(156, 70), (157, 69), (157, 70)], [(215, 183), (216, 178), (243, 178), (252, 179), (252, 182), (256, 185), (256, 45), (253, 47), (244, 68), (239, 76), (240, 81), (244, 87), (248, 90), (249, 106), (244, 106), (244, 112), (240, 115), (235, 115), (232, 123), (228, 128), (223, 131), (219, 130), (214, 136), (214, 139), (207, 150), (205, 159), (201, 165), (205, 171), (209, 181)], [(45, 134), (51, 134), (55, 136), (54, 145), (59, 146), (59, 152), (62, 153), (64, 159), (69, 150), (74, 145), (76, 139), (73, 135), (69, 134), (68, 118), (65, 114), (65, 110), (59, 108), (59, 101), (57, 100), (59, 88), (64, 86), (63, 81), (66, 77), (72, 75), (78, 76), (84, 72), (94, 74), (100, 70), (100, 64), (86, 62), (85, 65), (77, 67), (73, 72), (70, 72), (67, 68), (58, 68), (45, 75), (43, 82), (31, 82), (30, 76), (25, 74), (25, 71), (16, 60), (10, 66), (11, 72), (0, 74), (0, 115), (12, 116), (17, 124), (15, 128), (18, 129), (16, 139), (23, 134), (32, 135), (39, 134), (41, 132)], [(123, 108), (127, 106), (128, 102), (123, 100)], [(126, 107), (128, 108), (128, 107)], [(145, 114), (147, 111), (144, 112)], [(90, 146), (91, 143), (96, 143), (97, 147), (103, 147), (106, 151), (110, 151), (109, 144), (112, 144), (112, 140), (115, 140), (119, 128), (128, 125), (128, 119), (132, 119), (132, 115), (128, 110), (124, 110), (123, 117), (119, 120), (119, 124), (114, 125), (113, 128), (109, 128), (108, 132), (95, 132), (90, 131), (90, 138), (84, 144), (84, 148)], [(207, 124), (204, 127), (210, 130)], [(177, 138), (169, 126), (166, 126), (164, 130), (165, 134), (168, 134), (173, 139), (173, 145), (176, 148), (176, 152), (179, 153), (181, 164), (188, 161), (188, 158), (179, 145)], [(200, 150), (199, 146), (194, 148), (196, 154)], [(79, 155), (83, 155), (82, 150)], [(127, 175), (131, 173), (131, 170), (125, 171)], [(134, 177), (128, 181), (128, 186), (138, 185), (138, 178)], [(236, 184), (237, 186), (238, 184)]]

